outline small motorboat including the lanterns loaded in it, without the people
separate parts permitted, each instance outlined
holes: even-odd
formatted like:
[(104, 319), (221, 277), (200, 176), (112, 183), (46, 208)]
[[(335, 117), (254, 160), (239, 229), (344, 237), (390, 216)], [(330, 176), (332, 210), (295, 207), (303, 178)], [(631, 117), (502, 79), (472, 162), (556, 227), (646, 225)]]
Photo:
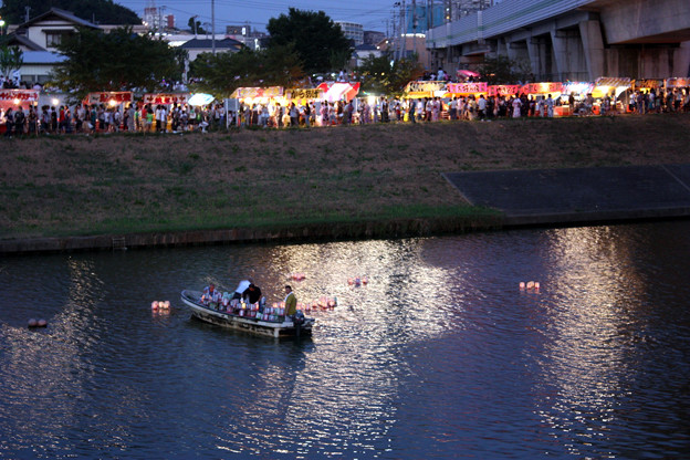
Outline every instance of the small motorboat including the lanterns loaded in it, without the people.
[(226, 310), (222, 305), (215, 307), (212, 304), (201, 302), (202, 295), (200, 291), (185, 290), (180, 299), (191, 310), (192, 317), (223, 327), (279, 338), (311, 335), (316, 321), (312, 317), (302, 317), (300, 323), (299, 320), (285, 318), (284, 312), (280, 309), (259, 307), (258, 304), (245, 305), (239, 310)]

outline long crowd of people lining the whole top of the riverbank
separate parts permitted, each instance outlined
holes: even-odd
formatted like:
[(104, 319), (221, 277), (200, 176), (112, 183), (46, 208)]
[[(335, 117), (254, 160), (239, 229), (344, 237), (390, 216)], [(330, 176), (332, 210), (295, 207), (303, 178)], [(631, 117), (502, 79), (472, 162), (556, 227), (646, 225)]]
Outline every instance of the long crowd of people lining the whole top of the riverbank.
[[(584, 97), (560, 95), (463, 95), (453, 97), (358, 97), (352, 101), (299, 101), (280, 104), (241, 103), (238, 111), (226, 111), (221, 104), (206, 107), (166, 104), (83, 104), (43, 106), (33, 105), (15, 109), (0, 108), (4, 122), (4, 136), (35, 136), (40, 134), (71, 133), (167, 133), (219, 129), (230, 126), (283, 128), (300, 126), (332, 126), (388, 122), (491, 121), (506, 117), (553, 117), (555, 107), (569, 106), (573, 115), (614, 115), (623, 112), (637, 114), (690, 111), (690, 91), (636, 90), (616, 100), (605, 96), (595, 101), (592, 94)], [(228, 119), (226, 119), (228, 117)]]

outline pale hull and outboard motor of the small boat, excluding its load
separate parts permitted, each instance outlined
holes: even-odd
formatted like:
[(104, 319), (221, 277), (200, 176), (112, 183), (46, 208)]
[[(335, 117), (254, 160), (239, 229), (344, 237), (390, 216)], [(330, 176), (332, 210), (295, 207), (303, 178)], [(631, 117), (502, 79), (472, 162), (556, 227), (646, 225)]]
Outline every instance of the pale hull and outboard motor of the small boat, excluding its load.
[(185, 290), (181, 293), (181, 301), (191, 309), (194, 317), (223, 327), (268, 335), (270, 337), (294, 337), (312, 335), (312, 326), (316, 321), (313, 317), (304, 317), (303, 323), (295, 324), (295, 321), (278, 315), (265, 315), (268, 318), (278, 321), (249, 317), (206, 305), (201, 302), (202, 294), (199, 291)]

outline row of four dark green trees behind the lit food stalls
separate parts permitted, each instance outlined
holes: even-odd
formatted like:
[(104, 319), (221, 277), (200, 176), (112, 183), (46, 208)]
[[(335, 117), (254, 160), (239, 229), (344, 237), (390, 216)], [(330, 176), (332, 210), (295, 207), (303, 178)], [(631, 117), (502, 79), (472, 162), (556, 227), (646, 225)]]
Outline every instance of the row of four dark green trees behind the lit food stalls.
[[(309, 76), (345, 69), (351, 42), (323, 11), (294, 8), (269, 21), (265, 49), (201, 53), (189, 66), (192, 91), (227, 97), (242, 86), (306, 87)], [(83, 97), (90, 91), (156, 92), (181, 81), (187, 52), (158, 36), (124, 27), (103, 33), (79, 28), (58, 46), (67, 59), (56, 65), (51, 85)], [(363, 88), (393, 94), (421, 74), (416, 60), (369, 58), (357, 70)], [(168, 88), (169, 91), (169, 88)]]

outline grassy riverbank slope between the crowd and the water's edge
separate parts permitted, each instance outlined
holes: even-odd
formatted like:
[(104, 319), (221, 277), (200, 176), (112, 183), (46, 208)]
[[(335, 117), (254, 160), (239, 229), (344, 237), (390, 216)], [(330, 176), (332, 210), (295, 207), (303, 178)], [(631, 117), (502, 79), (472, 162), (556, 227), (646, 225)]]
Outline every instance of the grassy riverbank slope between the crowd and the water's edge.
[(481, 219), (441, 172), (690, 161), (690, 115), (0, 139), (0, 239)]

